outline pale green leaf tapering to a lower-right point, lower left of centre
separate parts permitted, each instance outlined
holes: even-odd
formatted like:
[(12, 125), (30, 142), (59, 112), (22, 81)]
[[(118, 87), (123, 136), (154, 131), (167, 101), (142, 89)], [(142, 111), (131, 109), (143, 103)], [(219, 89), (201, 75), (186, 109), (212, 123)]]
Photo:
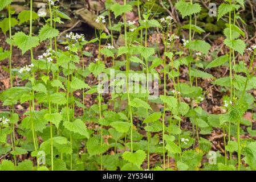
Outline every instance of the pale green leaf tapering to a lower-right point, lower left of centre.
[(69, 131), (78, 133), (86, 138), (89, 138), (86, 125), (81, 119), (76, 119), (74, 122), (64, 121), (63, 126)]

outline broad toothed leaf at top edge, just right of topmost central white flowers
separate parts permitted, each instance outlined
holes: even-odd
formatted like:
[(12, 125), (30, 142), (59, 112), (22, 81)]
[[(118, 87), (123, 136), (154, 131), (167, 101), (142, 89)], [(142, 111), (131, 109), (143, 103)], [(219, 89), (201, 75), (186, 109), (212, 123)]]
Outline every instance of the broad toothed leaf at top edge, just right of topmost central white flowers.
[(192, 14), (200, 13), (201, 11), (201, 6), (198, 3), (190, 5), (190, 3), (185, 2), (184, 0), (178, 1), (175, 4), (175, 7), (177, 8), (178, 12), (180, 12), (180, 14), (182, 15), (182, 18)]

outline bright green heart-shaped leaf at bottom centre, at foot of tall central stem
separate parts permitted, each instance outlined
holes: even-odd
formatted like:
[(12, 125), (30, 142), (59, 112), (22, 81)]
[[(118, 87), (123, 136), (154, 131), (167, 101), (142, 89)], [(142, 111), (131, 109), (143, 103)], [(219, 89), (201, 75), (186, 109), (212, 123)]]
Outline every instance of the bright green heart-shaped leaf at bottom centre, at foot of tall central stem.
[(136, 152), (125, 151), (122, 156), (124, 160), (135, 164), (137, 167), (140, 167), (147, 155), (143, 150), (137, 150)]

